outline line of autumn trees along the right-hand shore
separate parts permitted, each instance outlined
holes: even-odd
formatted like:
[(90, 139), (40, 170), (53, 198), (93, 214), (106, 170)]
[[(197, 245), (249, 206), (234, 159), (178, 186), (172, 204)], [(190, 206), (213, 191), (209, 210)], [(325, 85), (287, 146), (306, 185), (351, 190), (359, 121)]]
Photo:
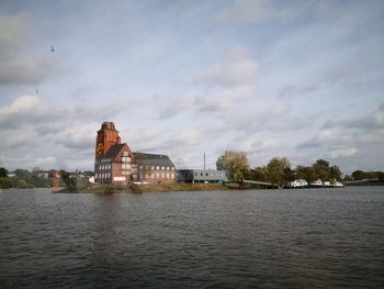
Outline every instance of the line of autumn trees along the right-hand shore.
[[(273, 157), (264, 166), (249, 166), (247, 155), (244, 152), (226, 151), (216, 160), (216, 168), (226, 170), (228, 179), (241, 182), (244, 179), (271, 182), (284, 186), (295, 179), (304, 179), (308, 184), (320, 179), (321, 181), (342, 180), (342, 171), (328, 160), (317, 159), (312, 166), (297, 166), (292, 168), (286, 157)], [(351, 177), (343, 180), (379, 179), (384, 178), (384, 173), (353, 171)]]

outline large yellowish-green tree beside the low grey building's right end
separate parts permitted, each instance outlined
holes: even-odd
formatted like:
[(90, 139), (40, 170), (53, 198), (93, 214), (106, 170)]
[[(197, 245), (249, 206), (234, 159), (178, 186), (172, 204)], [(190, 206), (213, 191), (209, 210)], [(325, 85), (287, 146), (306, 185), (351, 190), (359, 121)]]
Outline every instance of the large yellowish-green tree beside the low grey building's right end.
[(247, 155), (244, 152), (226, 151), (216, 160), (218, 170), (226, 170), (228, 178), (242, 181), (244, 176), (249, 173)]

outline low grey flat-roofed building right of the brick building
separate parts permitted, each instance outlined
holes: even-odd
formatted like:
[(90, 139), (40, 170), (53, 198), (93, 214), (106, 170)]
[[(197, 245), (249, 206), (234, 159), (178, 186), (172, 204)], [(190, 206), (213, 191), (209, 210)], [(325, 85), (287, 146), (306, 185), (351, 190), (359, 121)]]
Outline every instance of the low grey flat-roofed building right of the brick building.
[(225, 170), (215, 169), (178, 169), (177, 182), (196, 184), (196, 182), (224, 182), (227, 181)]

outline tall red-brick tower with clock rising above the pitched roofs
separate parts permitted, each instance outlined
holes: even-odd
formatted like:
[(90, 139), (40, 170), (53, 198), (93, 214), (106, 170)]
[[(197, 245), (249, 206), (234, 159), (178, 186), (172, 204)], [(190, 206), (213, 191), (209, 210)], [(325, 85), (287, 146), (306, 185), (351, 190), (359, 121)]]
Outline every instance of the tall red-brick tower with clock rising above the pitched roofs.
[(118, 136), (113, 122), (103, 122), (98, 131), (94, 148), (94, 159), (103, 157), (112, 145), (120, 144), (122, 141)]

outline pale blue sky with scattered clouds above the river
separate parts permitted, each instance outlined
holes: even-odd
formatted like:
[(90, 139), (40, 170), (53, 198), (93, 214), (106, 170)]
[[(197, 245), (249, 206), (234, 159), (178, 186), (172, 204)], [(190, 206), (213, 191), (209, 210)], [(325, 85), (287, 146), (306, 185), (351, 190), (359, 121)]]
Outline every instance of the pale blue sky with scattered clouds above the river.
[(113, 121), (177, 168), (384, 170), (383, 31), (381, 0), (2, 0), (0, 167), (93, 169)]

